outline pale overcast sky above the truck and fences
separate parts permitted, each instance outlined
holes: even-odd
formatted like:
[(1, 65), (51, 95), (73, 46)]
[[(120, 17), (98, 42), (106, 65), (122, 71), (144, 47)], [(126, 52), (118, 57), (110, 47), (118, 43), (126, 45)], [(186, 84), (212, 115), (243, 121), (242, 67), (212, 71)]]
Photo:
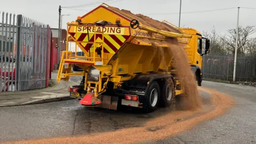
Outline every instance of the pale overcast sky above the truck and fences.
[[(0, 11), (23, 14), (26, 17), (41, 21), (58, 28), (58, 7), (76, 6), (82, 4), (106, 2), (119, 9), (130, 10), (133, 13), (142, 13), (157, 20), (167, 20), (178, 26), (180, 0), (1, 0)], [(82, 16), (97, 5), (62, 9), (62, 14), (70, 14), (63, 17), (62, 28), (66, 23), (74, 21), (77, 16)], [(255, 9), (241, 9), (239, 25), (256, 25), (256, 1), (255, 0), (182, 0), (181, 12), (196, 12), (230, 7), (252, 7)], [(160, 14), (159, 14), (160, 13)], [(161, 14), (174, 13), (174, 14)], [(199, 31), (212, 30), (213, 26), (218, 33), (225, 34), (229, 28), (236, 28), (237, 8), (181, 14), (181, 26), (196, 28)]]

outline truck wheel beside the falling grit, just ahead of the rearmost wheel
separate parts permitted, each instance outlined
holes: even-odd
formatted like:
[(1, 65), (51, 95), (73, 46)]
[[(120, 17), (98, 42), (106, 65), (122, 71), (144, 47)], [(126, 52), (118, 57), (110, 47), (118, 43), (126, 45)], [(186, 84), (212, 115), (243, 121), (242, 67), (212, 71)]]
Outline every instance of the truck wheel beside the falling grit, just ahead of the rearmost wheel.
[(175, 87), (173, 80), (166, 79), (161, 89), (161, 106), (175, 110)]

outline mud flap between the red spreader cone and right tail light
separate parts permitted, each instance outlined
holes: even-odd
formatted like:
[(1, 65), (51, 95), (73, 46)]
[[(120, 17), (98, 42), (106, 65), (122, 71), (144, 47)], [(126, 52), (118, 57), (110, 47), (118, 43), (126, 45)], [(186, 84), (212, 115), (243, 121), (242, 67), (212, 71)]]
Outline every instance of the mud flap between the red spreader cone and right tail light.
[(117, 110), (118, 97), (111, 97), (109, 95), (100, 95), (100, 99), (102, 103), (98, 107)]

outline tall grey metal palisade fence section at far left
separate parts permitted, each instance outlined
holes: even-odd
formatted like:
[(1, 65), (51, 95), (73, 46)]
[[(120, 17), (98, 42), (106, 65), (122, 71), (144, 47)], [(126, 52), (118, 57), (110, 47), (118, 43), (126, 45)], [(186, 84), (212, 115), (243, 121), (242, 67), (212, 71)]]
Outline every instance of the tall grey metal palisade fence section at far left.
[(23, 15), (0, 13), (0, 92), (46, 87), (50, 71), (49, 45), (49, 26)]

